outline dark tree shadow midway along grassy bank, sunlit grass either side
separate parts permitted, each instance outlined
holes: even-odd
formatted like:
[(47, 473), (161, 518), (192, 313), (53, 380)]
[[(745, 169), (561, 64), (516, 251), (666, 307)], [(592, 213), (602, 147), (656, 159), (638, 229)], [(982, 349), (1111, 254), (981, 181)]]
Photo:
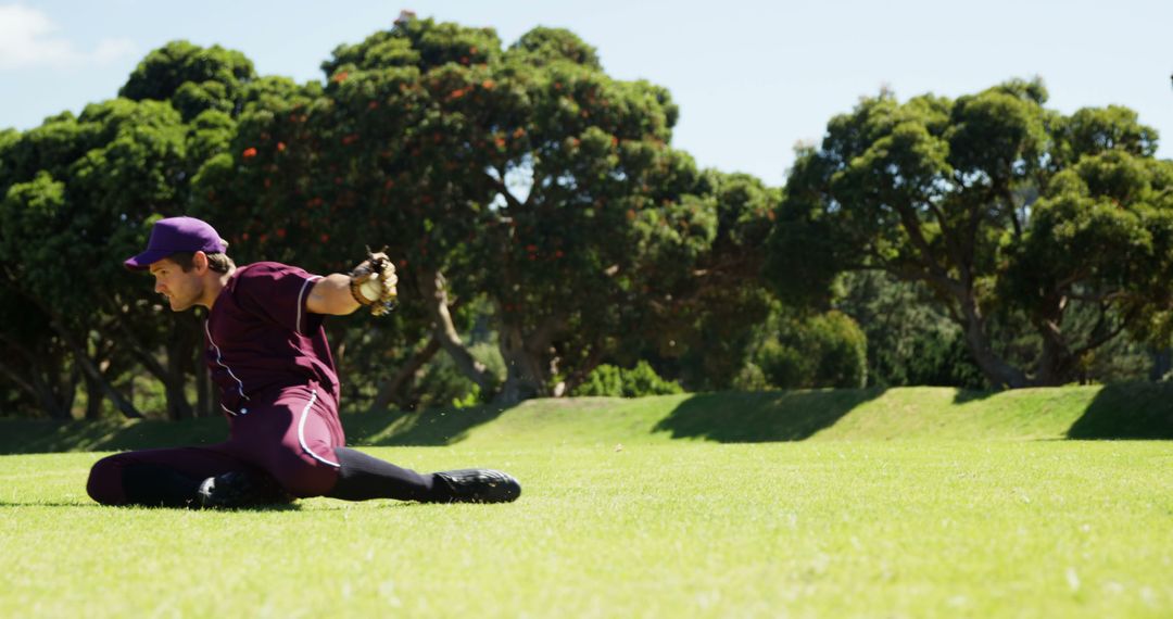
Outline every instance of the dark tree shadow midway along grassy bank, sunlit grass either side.
[(873, 388), (698, 394), (680, 402), (653, 430), (671, 433), (673, 438), (721, 443), (802, 441), (883, 392)]

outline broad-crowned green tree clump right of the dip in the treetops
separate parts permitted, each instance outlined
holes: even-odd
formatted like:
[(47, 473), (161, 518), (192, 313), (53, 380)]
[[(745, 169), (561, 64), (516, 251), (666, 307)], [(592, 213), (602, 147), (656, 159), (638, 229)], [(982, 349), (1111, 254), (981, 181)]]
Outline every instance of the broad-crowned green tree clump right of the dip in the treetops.
[[(1134, 114), (1066, 117), (1045, 101), (1042, 83), (1012, 81), (956, 101), (881, 93), (834, 117), (787, 183), (771, 240), (778, 291), (826, 304), (842, 271), (921, 281), (990, 383), (1074, 380), (1082, 355), (1164, 315), (1169, 164)], [(1099, 261), (1083, 264), (1091, 252)], [(1133, 256), (1155, 271), (1119, 266)], [(990, 334), (1015, 312), (1040, 341), (1022, 365)]]

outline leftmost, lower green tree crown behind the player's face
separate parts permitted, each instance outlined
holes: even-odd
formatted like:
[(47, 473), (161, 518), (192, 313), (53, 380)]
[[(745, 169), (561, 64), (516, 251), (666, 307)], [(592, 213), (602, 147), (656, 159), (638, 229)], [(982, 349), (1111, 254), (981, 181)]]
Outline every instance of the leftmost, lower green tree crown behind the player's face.
[[(43, 347), (22, 355), (26, 367), (46, 374), (34, 369), (42, 361), (38, 353), (60, 362), (49, 343), (59, 342), (90, 386), (90, 402), (108, 397), (130, 416), (138, 413), (111, 381), (134, 366), (135, 352), (154, 361), (163, 339), (152, 338), (162, 335), (152, 328), (130, 327), (143, 304), (131, 301), (142, 295), (129, 290), (134, 283), (121, 260), (144, 242), (138, 224), (181, 209), (184, 152), (185, 129), (170, 106), (118, 98), (88, 106), (77, 118), (53, 118), (0, 155), (7, 162), (4, 281), (52, 328)], [(190, 347), (183, 354), (190, 358)], [(154, 367), (175, 392), (170, 403), (185, 407), (182, 380)]]

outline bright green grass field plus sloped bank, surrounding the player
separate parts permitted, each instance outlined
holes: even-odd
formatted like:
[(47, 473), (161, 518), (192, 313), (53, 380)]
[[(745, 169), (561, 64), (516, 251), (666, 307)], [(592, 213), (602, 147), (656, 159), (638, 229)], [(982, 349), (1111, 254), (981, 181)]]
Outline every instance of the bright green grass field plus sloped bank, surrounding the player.
[(2, 617), (1169, 617), (1161, 388), (714, 394), (357, 415), (507, 505), (111, 509), (88, 467), (223, 421), (4, 422)]

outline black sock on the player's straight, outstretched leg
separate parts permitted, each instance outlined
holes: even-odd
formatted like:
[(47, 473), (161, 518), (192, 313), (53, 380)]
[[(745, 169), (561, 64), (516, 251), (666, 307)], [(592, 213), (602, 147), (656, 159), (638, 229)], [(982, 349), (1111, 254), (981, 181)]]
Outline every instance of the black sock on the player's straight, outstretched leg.
[(341, 467), (338, 483), (326, 496), (344, 501), (398, 498), (400, 501), (442, 501), (439, 496), (443, 483), (435, 483), (432, 474), (421, 475), (389, 462), (345, 447), (335, 447), (334, 456)]

